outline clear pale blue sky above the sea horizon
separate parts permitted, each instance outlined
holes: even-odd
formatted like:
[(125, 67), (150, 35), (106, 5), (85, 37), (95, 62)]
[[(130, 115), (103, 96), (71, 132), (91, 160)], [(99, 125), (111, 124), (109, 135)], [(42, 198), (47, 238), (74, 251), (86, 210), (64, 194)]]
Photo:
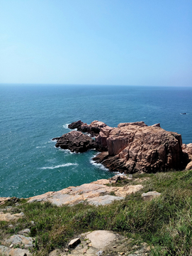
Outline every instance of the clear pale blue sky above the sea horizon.
[(191, 0), (0, 6), (0, 83), (192, 86)]

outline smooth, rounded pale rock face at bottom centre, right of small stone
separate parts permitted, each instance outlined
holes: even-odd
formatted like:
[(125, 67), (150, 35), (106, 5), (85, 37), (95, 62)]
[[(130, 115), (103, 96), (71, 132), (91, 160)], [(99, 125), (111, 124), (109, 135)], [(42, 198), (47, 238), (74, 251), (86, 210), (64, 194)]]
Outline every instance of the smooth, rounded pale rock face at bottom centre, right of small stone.
[(86, 235), (91, 244), (98, 250), (103, 250), (107, 245), (109, 245), (113, 240), (115, 240), (116, 235), (106, 230), (96, 230), (88, 235)]

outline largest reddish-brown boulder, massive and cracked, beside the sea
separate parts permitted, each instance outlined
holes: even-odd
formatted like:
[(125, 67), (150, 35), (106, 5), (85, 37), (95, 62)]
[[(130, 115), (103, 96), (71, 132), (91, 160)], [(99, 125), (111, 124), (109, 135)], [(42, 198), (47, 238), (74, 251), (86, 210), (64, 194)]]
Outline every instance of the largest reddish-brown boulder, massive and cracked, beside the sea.
[(108, 134), (101, 131), (96, 142), (104, 142), (108, 151), (98, 154), (94, 160), (111, 171), (155, 172), (184, 169), (188, 164), (181, 148), (181, 135), (166, 132), (159, 125), (147, 127), (144, 122), (119, 124)]

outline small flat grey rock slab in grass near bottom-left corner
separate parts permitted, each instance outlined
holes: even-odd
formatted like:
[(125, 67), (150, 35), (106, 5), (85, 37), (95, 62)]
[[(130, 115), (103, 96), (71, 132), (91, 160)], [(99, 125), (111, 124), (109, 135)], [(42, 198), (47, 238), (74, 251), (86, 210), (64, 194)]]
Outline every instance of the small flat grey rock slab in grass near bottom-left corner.
[(33, 247), (33, 239), (24, 235), (12, 235), (6, 240), (6, 244), (24, 245), (25, 248)]

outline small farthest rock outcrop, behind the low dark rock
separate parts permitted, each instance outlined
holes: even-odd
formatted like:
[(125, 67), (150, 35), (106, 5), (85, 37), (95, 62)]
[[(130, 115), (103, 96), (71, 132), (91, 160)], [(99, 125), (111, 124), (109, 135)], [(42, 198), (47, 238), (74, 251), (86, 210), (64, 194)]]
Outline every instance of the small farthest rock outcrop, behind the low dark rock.
[(81, 122), (81, 120), (77, 122), (72, 122), (72, 124), (68, 125), (69, 129), (77, 129), (79, 132), (86, 132), (91, 134), (91, 136), (97, 136), (102, 127), (106, 127), (106, 124), (100, 121), (95, 120), (91, 122), (91, 124), (86, 124)]

